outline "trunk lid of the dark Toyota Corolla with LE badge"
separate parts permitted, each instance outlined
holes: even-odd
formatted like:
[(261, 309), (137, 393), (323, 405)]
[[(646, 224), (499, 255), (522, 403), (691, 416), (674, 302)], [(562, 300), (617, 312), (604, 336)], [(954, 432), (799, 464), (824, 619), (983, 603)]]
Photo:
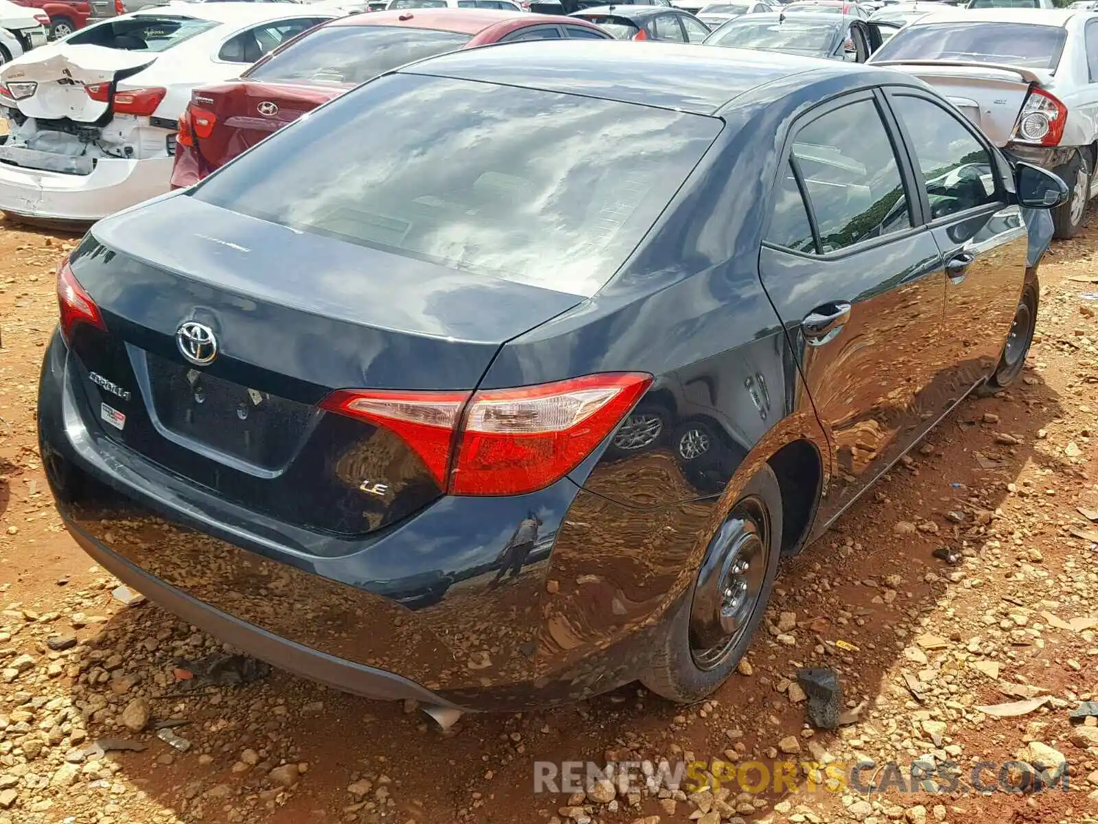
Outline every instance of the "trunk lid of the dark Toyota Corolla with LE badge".
[[(70, 345), (108, 436), (228, 500), (351, 535), (428, 505), (445, 481), (394, 431), (324, 399), (468, 392), (505, 341), (582, 300), (186, 196), (101, 222), (71, 270), (105, 324), (77, 326)], [(184, 357), (186, 323), (213, 332), (209, 364)]]

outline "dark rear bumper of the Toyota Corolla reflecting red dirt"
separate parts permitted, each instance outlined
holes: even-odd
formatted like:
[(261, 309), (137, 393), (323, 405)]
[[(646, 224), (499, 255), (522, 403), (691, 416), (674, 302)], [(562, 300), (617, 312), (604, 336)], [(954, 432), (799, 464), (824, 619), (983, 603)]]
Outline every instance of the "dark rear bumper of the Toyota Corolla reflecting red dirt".
[[(514, 498), (442, 498), (354, 545), (310, 541), (109, 438), (79, 368), (55, 334), (40, 449), (74, 537), (186, 621), (348, 692), (466, 710), (581, 700), (645, 670), (692, 579), (712, 502), (630, 510), (568, 478)], [(529, 511), (541, 539), (497, 583)]]

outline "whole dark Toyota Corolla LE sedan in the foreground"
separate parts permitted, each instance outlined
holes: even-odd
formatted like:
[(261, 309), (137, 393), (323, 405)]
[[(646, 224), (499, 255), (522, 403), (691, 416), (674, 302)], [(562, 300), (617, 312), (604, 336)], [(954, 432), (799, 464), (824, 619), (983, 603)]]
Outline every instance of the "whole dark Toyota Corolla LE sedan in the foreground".
[(42, 456), (99, 563), (311, 678), (693, 701), (780, 554), (1018, 377), (1063, 196), (888, 69), (436, 57), (91, 230)]

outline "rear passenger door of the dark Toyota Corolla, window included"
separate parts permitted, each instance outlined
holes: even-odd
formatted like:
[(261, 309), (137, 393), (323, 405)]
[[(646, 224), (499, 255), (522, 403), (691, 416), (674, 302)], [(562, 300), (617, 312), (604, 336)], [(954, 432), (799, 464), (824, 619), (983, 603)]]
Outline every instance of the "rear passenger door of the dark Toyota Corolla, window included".
[[(887, 121), (890, 123), (890, 121)], [(798, 122), (760, 257), (774, 303), (838, 458), (827, 523), (939, 414), (928, 389), (948, 368), (941, 257), (884, 97), (860, 92)]]

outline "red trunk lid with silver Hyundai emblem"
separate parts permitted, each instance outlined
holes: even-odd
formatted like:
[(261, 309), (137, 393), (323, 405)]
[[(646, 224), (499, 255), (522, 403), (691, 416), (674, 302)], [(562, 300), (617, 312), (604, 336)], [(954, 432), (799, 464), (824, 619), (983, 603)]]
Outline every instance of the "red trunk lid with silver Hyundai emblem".
[[(194, 145), (216, 169), (305, 112), (339, 97), (351, 83), (235, 82), (191, 92)], [(212, 116), (211, 116), (212, 115)], [(199, 121), (204, 121), (201, 125)]]

